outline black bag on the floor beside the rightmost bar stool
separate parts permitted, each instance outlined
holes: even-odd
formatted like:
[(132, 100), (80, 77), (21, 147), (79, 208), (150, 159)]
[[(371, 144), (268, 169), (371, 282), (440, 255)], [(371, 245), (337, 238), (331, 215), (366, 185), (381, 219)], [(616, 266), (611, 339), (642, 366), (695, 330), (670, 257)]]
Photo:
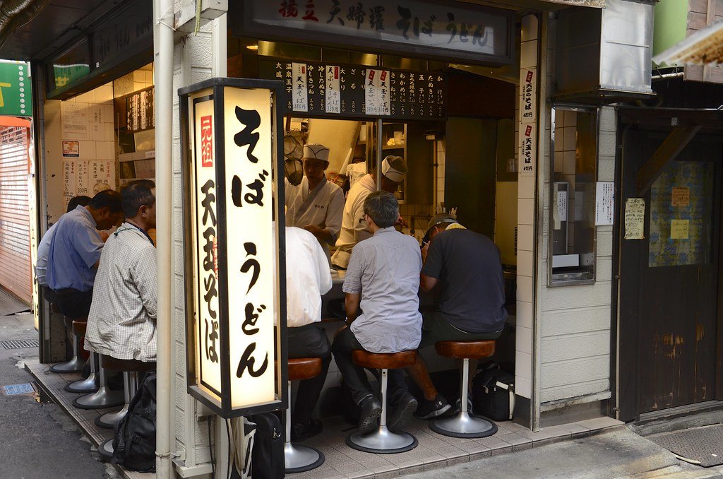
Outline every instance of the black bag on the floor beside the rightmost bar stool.
[(494, 362), (479, 365), (472, 379), (474, 412), (493, 421), (512, 419), (515, 410), (515, 375)]

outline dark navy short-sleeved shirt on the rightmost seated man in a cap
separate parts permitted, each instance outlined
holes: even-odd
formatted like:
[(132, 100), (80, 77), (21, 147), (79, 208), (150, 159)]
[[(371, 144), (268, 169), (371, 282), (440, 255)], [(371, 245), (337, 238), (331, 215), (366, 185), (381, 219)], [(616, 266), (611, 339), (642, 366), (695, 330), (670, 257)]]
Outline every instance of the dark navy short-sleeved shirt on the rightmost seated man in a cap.
[(500, 331), (507, 319), (500, 250), (469, 229), (437, 234), (422, 274), (440, 281), (440, 312), (469, 333)]

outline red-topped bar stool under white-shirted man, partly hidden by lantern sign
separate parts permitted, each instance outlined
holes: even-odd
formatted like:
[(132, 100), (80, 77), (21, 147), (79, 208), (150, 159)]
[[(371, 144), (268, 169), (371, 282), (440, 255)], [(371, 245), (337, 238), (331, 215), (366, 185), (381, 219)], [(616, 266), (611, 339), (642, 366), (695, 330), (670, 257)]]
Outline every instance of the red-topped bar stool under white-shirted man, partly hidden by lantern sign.
[(324, 454), (309, 446), (291, 444), (291, 381), (310, 379), (321, 374), (320, 357), (299, 357), (288, 360), (288, 409), (286, 410), (286, 444), (283, 447), (286, 473), (304, 472), (324, 464)]

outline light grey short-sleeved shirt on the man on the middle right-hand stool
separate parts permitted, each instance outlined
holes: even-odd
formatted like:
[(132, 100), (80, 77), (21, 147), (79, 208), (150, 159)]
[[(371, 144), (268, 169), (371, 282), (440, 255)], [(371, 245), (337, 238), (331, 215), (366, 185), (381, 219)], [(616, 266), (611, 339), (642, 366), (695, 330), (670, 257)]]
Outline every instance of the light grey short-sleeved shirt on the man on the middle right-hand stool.
[(352, 250), (342, 290), (361, 293), (363, 312), (350, 327), (367, 351), (400, 352), (419, 347), (420, 268), (419, 243), (393, 226), (379, 229)]

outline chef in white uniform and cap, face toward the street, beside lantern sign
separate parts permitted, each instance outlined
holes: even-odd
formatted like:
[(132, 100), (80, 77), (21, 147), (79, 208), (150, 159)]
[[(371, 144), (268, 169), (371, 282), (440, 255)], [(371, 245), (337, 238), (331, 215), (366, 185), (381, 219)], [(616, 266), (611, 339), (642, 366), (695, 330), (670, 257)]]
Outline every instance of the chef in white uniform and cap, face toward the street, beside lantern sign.
[(286, 226), (296, 226), (312, 233), (329, 258), (329, 245), (336, 241), (341, 229), (344, 193), (326, 179), (329, 148), (304, 145), (304, 178), (299, 185), (286, 179)]

